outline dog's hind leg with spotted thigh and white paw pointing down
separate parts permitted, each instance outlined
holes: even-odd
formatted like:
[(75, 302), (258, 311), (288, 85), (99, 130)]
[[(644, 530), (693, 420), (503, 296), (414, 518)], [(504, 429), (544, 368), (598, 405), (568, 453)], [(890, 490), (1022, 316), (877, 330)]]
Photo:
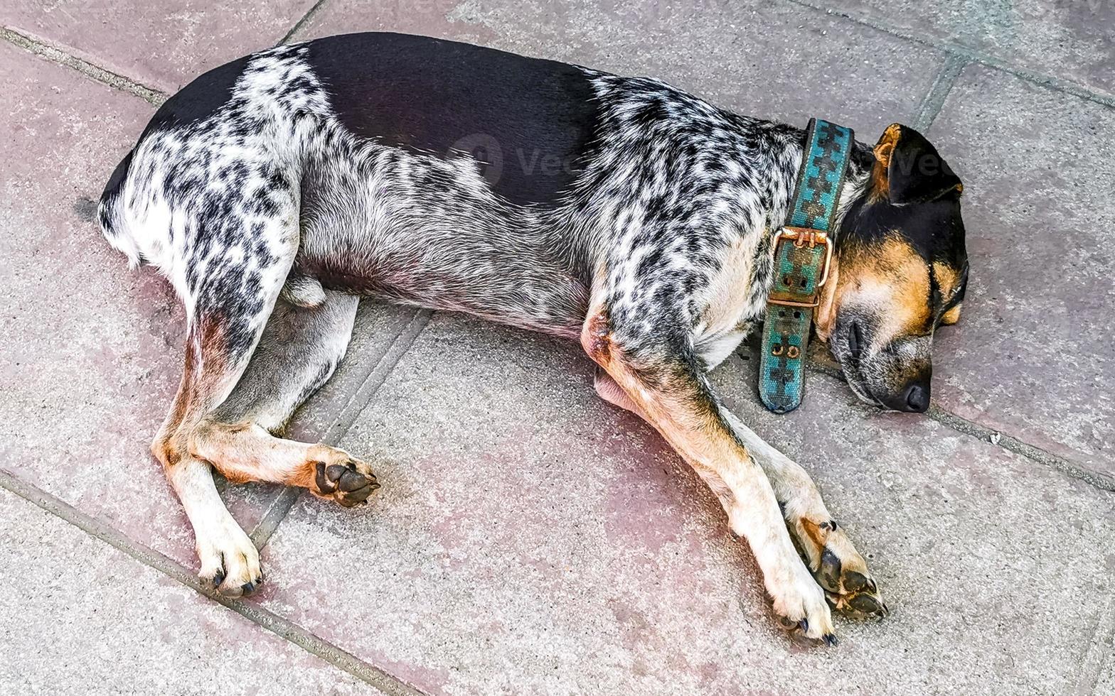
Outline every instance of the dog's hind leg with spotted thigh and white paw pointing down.
[[(185, 365), (152, 453), (193, 526), (202, 580), (229, 596), (251, 592), (262, 581), (259, 552), (221, 501), (209, 463), (191, 445), (243, 374), (298, 253), (297, 209), (285, 213), (256, 223), (252, 255), (244, 255), (243, 246), (239, 254), (222, 247), (209, 228), (200, 231), (175, 262), (185, 272), (171, 274), (187, 307)], [(235, 220), (204, 223), (220, 229)]]

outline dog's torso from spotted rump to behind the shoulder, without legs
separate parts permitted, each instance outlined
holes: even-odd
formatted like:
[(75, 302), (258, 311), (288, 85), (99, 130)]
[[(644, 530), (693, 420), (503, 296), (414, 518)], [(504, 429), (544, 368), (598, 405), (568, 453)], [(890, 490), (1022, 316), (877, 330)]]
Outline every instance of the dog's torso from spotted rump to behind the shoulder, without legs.
[(229, 249), (295, 215), (299, 275), (575, 335), (588, 252), (571, 208), (597, 75), (394, 33), (261, 51), (158, 109), (101, 225), (188, 297), (195, 268), (237, 266)]

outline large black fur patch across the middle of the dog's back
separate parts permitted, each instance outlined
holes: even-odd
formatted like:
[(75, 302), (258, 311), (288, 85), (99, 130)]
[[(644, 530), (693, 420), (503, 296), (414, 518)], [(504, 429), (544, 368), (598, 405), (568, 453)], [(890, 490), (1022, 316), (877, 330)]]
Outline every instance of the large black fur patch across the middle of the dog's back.
[(573, 183), (598, 107), (575, 66), (399, 33), (308, 45), (307, 61), (351, 133), (411, 153), (466, 150), (511, 203), (547, 204)]

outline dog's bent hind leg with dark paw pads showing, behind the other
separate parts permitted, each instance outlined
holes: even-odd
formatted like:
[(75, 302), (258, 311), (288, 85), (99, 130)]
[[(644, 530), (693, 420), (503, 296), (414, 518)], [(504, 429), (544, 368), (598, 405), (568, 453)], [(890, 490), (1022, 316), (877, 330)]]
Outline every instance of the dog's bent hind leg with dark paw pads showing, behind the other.
[(379, 488), (370, 467), (337, 448), (272, 434), (329, 379), (352, 334), (359, 298), (321, 297), (316, 306), (278, 302), (248, 371), (194, 432), (191, 451), (230, 481), (297, 486), (349, 507)]

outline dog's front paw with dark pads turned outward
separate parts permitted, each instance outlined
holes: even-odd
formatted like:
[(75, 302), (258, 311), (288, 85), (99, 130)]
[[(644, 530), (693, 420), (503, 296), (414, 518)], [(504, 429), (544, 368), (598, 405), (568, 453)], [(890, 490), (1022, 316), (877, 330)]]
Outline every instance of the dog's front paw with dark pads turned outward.
[[(808, 540), (816, 545), (809, 568), (834, 609), (855, 619), (882, 619), (890, 610), (867, 562), (835, 521), (815, 525), (802, 520)], [(807, 559), (808, 560), (808, 559)]]

